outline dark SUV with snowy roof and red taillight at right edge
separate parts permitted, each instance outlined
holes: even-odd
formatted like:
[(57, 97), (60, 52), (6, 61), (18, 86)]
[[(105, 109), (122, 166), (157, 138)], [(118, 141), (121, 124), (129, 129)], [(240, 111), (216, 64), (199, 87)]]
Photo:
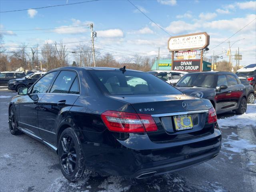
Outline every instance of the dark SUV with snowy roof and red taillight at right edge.
[(254, 92), (256, 93), (256, 64), (250, 64), (238, 69), (236, 75), (247, 78), (248, 82), (253, 86)]

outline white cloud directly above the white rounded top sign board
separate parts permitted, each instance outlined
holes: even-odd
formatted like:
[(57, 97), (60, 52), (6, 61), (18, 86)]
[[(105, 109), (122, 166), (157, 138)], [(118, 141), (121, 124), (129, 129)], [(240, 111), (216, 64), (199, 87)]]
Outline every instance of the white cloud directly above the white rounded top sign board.
[(171, 22), (170, 25), (165, 29), (170, 33), (179, 34), (182, 32), (195, 31), (199, 27), (200, 27), (200, 23), (190, 24), (182, 20), (178, 20), (178, 21)]

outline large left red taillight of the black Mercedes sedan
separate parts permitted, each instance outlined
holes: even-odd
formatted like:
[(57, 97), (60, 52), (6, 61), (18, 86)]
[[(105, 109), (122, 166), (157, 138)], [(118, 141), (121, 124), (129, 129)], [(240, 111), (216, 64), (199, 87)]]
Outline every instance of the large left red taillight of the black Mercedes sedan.
[(126, 133), (157, 131), (151, 115), (106, 111), (101, 114), (101, 118), (110, 131)]

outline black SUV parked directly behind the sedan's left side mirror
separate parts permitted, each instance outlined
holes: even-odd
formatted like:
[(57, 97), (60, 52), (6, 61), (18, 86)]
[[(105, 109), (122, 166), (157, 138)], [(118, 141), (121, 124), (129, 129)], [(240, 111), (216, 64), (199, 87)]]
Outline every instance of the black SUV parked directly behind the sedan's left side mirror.
[(22, 88), (22, 87), (29, 88), (30, 86), (32, 86), (32, 84), (34, 84), (34, 82), (36, 82), (36, 80), (38, 80), (45, 73), (46, 72), (35, 72), (35, 73), (30, 73), (23, 78), (10, 80), (7, 85), (8, 89), (18, 91), (19, 88)]

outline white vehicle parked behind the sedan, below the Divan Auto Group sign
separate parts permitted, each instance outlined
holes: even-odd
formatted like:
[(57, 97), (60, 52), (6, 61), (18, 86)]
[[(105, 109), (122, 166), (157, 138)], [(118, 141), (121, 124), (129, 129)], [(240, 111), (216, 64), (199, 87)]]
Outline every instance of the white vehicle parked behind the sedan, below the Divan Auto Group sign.
[(164, 71), (156, 74), (158, 78), (164, 80), (165, 82), (169, 84), (175, 84), (184, 76), (184, 74), (187, 74), (188, 72), (184, 71)]

